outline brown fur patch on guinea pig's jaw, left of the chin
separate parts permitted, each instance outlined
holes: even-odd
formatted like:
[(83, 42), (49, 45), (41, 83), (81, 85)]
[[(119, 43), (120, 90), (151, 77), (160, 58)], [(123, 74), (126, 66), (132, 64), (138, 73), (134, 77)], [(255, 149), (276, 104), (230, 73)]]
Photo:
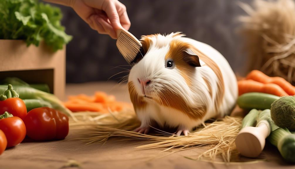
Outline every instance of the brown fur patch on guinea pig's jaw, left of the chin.
[(146, 106), (146, 102), (143, 100), (142, 97), (140, 97), (137, 94), (137, 91), (135, 89), (133, 82), (128, 82), (128, 90), (129, 90), (130, 99), (135, 109), (135, 112), (137, 109), (144, 108)]

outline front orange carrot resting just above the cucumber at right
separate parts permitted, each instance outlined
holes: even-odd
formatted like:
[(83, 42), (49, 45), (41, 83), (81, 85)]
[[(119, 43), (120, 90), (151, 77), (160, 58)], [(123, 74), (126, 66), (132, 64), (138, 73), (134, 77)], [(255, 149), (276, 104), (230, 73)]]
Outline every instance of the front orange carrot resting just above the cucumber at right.
[(263, 84), (254, 80), (238, 81), (239, 95), (248, 92), (262, 92), (277, 96), (289, 96), (279, 85), (268, 83)]

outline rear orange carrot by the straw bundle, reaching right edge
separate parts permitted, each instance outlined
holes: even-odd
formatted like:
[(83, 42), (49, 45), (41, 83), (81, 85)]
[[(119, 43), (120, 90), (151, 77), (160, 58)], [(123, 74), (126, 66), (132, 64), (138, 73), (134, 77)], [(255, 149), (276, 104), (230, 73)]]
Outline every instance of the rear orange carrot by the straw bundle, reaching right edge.
[(269, 77), (259, 70), (251, 71), (246, 79), (252, 79), (264, 84), (273, 83), (279, 85), (288, 95), (295, 95), (295, 86), (282, 77)]

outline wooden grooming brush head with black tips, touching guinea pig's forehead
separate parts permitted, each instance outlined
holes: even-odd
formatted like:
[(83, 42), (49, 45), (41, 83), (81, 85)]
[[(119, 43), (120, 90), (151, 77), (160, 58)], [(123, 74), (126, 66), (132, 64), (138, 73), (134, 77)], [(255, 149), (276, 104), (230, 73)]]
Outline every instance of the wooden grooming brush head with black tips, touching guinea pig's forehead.
[(117, 48), (131, 66), (143, 58), (142, 45), (134, 35), (125, 29), (119, 29), (117, 30), (117, 37)]

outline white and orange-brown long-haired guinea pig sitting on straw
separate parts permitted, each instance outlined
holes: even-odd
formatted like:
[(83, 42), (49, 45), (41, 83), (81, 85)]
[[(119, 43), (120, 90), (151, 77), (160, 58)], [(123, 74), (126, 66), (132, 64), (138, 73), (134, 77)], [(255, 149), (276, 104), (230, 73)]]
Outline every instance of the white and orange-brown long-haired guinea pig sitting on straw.
[(128, 88), (141, 126), (153, 122), (187, 135), (209, 118), (235, 106), (237, 79), (227, 60), (211, 46), (180, 32), (142, 36), (144, 57), (130, 70)]

